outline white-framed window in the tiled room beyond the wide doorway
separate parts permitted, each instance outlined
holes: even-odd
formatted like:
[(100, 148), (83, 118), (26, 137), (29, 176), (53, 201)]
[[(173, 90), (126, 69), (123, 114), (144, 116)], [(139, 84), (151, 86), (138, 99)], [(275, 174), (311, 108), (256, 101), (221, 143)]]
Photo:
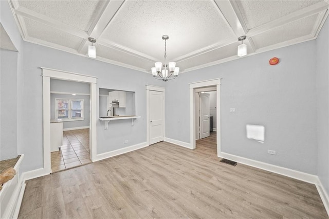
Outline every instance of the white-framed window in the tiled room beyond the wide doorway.
[(55, 117), (66, 121), (83, 120), (82, 99), (55, 99)]

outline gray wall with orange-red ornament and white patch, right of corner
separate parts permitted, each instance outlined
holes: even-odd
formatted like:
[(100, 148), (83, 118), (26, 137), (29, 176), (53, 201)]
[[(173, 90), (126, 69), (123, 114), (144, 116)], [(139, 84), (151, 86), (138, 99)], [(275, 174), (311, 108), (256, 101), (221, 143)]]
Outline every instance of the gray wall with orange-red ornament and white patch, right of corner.
[[(166, 136), (190, 142), (189, 83), (223, 78), (222, 152), (317, 174), (315, 57), (309, 41), (181, 74), (166, 87)], [(247, 139), (246, 124), (264, 125), (265, 142)]]

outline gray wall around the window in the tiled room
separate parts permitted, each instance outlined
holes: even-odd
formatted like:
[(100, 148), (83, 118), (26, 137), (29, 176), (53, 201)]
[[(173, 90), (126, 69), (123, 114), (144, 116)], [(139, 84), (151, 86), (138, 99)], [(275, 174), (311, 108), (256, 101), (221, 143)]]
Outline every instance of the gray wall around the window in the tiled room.
[[(75, 81), (64, 81), (50, 79), (50, 92), (67, 92), (71, 94), (89, 94), (90, 85), (87, 83), (80, 83)], [(84, 104), (84, 120), (63, 122), (64, 129), (74, 129), (78, 127), (89, 126), (90, 122), (90, 95), (76, 95), (71, 94), (51, 94), (50, 95), (50, 118), (55, 118), (55, 99), (83, 99)]]

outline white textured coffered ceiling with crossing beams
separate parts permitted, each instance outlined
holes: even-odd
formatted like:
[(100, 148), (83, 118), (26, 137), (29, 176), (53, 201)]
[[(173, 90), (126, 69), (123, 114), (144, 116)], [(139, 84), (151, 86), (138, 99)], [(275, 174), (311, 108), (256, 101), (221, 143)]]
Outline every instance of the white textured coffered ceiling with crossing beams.
[(9, 0), (25, 41), (150, 72), (167, 60), (190, 71), (317, 37), (329, 0)]

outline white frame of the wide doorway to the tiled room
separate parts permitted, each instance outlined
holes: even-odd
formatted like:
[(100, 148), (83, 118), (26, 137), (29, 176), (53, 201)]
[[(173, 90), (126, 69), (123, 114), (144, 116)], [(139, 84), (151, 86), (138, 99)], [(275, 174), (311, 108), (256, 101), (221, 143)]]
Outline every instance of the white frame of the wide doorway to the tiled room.
[(89, 125), (89, 148), (90, 159), (96, 160), (97, 156), (97, 77), (81, 75), (74, 72), (56, 70), (41, 67), (43, 83), (43, 168), (51, 173), (50, 158), (50, 79), (85, 82), (90, 84), (90, 125)]

